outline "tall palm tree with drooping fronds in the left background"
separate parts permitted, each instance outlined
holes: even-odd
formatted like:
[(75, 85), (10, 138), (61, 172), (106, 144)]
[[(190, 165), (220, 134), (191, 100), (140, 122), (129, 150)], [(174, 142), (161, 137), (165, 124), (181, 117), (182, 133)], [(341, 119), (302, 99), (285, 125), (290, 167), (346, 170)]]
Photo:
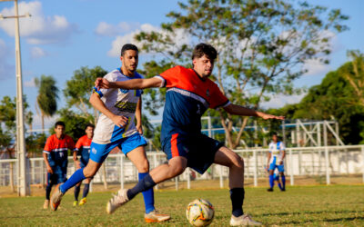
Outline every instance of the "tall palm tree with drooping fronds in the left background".
[(52, 75), (42, 74), (40, 79), (35, 78), (35, 85), (38, 88), (36, 103), (39, 106), (42, 117), (42, 130), (45, 130), (45, 117), (50, 117), (56, 114), (58, 98), (58, 88), (56, 80)]

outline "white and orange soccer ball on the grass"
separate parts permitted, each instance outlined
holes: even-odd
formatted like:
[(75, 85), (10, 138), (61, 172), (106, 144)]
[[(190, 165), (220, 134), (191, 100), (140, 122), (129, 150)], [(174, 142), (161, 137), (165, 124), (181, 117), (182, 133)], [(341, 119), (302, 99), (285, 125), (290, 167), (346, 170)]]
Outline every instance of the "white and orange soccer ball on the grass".
[(187, 220), (194, 226), (207, 226), (214, 219), (214, 214), (214, 207), (207, 200), (197, 199), (187, 205)]

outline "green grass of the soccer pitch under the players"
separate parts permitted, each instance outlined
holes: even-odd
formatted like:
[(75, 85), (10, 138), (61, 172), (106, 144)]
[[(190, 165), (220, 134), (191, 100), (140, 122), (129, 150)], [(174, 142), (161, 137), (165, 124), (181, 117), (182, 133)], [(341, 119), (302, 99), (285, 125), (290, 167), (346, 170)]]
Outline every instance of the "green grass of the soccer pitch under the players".
[[(73, 192), (67, 192), (57, 212), (43, 210), (44, 197), (0, 199), (1, 226), (188, 226), (187, 203), (204, 198), (215, 207), (211, 226), (227, 226), (230, 200), (227, 189), (157, 191), (157, 208), (171, 214), (163, 224), (146, 224), (141, 195), (106, 214), (111, 192), (94, 192), (83, 207), (73, 207)], [(247, 188), (244, 211), (266, 225), (364, 226), (364, 185), (295, 186), (287, 192)]]

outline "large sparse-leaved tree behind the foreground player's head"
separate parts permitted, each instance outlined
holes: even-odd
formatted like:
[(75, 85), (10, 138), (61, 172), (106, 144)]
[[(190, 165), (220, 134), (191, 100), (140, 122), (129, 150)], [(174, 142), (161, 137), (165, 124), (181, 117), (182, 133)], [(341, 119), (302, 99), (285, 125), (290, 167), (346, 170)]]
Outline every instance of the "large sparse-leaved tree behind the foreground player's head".
[[(144, 64), (147, 74), (160, 73), (174, 64), (189, 66), (193, 43), (213, 44), (218, 58), (212, 79), (230, 101), (256, 110), (270, 94), (298, 92), (293, 81), (307, 72), (305, 63), (329, 63), (330, 30), (347, 29), (341, 23), (348, 17), (339, 10), (306, 2), (189, 0), (178, 5), (181, 12), (167, 14), (171, 22), (162, 24), (160, 32), (135, 37), (143, 51), (160, 55), (159, 62)], [(178, 44), (177, 37), (185, 37), (185, 42)], [(152, 92), (146, 94), (150, 100), (161, 100)], [(221, 110), (211, 114), (220, 117), (228, 146), (236, 148), (248, 117), (238, 123), (238, 117)], [(238, 123), (238, 133), (232, 131), (234, 123)]]

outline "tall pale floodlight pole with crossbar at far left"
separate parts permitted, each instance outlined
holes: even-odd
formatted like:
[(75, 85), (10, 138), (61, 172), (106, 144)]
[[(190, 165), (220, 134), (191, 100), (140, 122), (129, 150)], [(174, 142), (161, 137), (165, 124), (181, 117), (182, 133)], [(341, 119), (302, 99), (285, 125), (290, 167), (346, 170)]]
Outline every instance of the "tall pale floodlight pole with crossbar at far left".
[[(1, 2), (9, 0), (0, 0)], [(22, 61), (20, 55), (20, 35), (19, 35), (19, 17), (27, 15), (18, 14), (17, 0), (14, 0), (15, 15), (1, 16), (1, 19), (15, 18), (15, 64), (16, 64), (16, 153), (18, 161), (18, 195), (30, 195), (29, 182), (26, 178), (26, 156), (25, 156), (25, 127), (24, 127), (24, 105), (23, 105), (23, 80), (22, 80)]]

